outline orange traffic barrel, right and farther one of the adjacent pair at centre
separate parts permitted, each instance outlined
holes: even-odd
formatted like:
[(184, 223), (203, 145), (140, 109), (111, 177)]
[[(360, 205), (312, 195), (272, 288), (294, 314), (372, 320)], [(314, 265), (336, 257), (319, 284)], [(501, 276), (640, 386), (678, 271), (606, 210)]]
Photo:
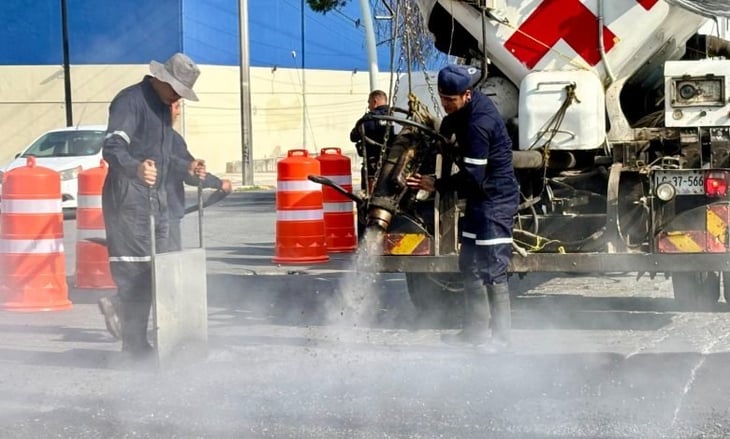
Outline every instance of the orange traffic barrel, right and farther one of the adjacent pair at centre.
[[(350, 158), (342, 155), (340, 148), (322, 148), (317, 157), (322, 176), (343, 189), (352, 192), (352, 169)], [(352, 252), (357, 249), (354, 203), (332, 189), (322, 186), (324, 231), (328, 252)]]

